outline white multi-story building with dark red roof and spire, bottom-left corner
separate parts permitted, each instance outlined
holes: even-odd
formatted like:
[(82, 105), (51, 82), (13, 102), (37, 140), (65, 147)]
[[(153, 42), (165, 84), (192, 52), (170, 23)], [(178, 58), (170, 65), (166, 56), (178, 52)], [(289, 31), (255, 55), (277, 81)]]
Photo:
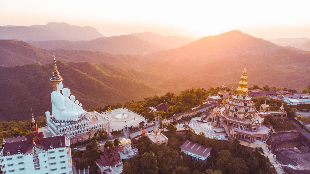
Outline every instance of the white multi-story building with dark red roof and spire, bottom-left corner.
[(5, 142), (0, 152), (3, 174), (71, 174), (72, 161), (69, 138), (44, 138), (33, 119), (25, 141)]

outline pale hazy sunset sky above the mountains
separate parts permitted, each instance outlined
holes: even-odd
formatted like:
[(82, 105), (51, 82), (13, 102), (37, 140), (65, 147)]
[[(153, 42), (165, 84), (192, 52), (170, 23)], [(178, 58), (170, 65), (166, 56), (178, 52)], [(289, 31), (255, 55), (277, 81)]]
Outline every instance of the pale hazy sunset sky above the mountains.
[(0, 0), (0, 26), (66, 22), (104, 36), (153, 32), (189, 38), (241, 30), (255, 37), (310, 37), (310, 1)]

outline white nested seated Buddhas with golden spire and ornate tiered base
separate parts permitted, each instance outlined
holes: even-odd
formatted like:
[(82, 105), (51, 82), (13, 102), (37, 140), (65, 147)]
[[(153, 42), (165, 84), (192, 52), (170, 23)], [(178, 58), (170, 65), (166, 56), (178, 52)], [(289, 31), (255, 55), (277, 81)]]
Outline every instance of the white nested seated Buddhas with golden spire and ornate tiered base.
[(51, 136), (76, 137), (100, 128), (110, 132), (110, 120), (106, 115), (96, 111), (85, 111), (82, 103), (71, 95), (70, 89), (63, 88), (63, 78), (58, 72), (55, 56), (53, 76), (50, 81), (53, 87), (51, 92), (52, 115), (50, 111), (46, 111), (45, 115), (47, 130)]

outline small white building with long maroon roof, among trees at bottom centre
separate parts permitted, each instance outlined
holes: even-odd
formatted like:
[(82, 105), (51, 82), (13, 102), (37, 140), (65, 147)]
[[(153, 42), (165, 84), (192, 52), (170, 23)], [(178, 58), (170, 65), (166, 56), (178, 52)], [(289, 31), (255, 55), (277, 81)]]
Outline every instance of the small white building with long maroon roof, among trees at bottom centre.
[(206, 147), (198, 143), (194, 143), (192, 141), (186, 140), (184, 144), (182, 144), (181, 152), (192, 156), (192, 160), (201, 160), (207, 161), (210, 157), (211, 147)]

